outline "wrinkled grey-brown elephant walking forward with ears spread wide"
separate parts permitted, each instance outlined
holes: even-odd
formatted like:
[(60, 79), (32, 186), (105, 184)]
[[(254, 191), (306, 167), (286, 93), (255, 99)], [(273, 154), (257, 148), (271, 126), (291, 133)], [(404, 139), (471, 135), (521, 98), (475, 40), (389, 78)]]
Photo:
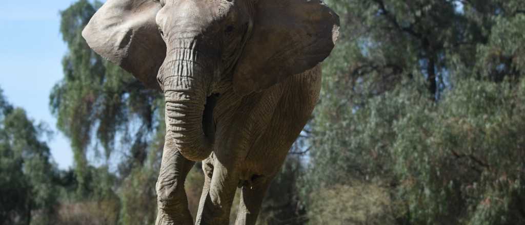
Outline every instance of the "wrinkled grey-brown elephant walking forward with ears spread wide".
[(311, 117), (339, 35), (322, 0), (108, 0), (89, 47), (165, 98), (156, 224), (193, 224), (186, 175), (202, 161), (195, 224), (255, 224), (272, 178)]

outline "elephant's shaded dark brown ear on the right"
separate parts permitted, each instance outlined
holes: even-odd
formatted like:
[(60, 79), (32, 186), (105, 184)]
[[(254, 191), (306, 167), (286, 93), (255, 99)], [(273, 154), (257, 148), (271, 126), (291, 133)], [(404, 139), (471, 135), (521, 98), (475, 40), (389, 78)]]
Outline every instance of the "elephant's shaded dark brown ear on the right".
[(246, 95), (312, 69), (328, 57), (339, 35), (339, 16), (321, 0), (259, 0), (254, 28), (233, 75)]

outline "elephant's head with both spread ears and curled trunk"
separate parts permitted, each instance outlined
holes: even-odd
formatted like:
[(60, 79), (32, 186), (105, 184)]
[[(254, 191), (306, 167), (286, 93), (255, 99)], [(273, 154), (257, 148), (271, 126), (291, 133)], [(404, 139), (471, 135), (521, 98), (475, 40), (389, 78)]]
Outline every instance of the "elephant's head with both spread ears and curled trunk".
[(328, 57), (338, 29), (321, 0), (108, 0), (82, 36), (163, 91), (166, 137), (198, 161), (213, 149), (203, 115), (218, 83), (240, 98), (309, 70)]

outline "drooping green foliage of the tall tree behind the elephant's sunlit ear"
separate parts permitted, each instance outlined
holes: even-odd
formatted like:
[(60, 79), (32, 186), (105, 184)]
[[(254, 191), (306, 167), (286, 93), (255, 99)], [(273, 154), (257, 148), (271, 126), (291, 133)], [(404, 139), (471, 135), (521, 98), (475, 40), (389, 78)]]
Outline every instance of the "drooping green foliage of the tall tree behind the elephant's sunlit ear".
[[(125, 177), (134, 166), (145, 162), (153, 134), (163, 132), (157, 129), (162, 121), (160, 93), (144, 88), (133, 76), (103, 60), (81, 36), (100, 5), (80, 0), (60, 12), (60, 32), (68, 52), (62, 60), (64, 79), (50, 94), (57, 127), (71, 140), (78, 194), (82, 197), (90, 193), (86, 180), (90, 163), (100, 164), (102, 159), (108, 164), (116, 149), (129, 149), (118, 152), (124, 156), (118, 167)], [(88, 158), (89, 150), (93, 150), (95, 160)]]

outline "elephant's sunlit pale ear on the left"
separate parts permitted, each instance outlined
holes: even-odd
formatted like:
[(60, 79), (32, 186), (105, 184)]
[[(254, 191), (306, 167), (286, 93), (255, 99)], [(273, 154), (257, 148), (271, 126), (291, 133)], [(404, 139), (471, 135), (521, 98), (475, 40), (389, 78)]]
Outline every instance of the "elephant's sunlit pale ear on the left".
[(108, 0), (82, 31), (88, 45), (103, 58), (132, 73), (144, 85), (156, 81), (166, 46), (155, 17), (162, 8), (151, 0)]

